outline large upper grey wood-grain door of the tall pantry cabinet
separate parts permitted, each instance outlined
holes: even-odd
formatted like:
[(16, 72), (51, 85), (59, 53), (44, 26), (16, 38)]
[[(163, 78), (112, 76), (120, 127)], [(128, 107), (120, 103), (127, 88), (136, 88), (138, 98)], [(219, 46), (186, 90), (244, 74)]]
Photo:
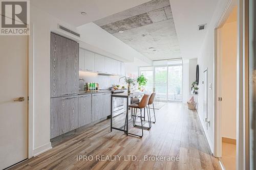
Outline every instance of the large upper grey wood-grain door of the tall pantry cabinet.
[(78, 93), (79, 44), (51, 33), (51, 98)]

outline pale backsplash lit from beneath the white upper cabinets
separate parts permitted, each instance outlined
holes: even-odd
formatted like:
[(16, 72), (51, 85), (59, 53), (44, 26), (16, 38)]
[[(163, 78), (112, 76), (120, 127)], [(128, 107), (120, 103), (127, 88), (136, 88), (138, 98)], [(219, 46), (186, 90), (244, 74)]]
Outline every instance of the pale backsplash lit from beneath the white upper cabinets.
[[(79, 78), (82, 78), (88, 82), (95, 82), (99, 83), (99, 89), (108, 89), (112, 87), (113, 84), (117, 85), (119, 82), (119, 78), (121, 76), (105, 76), (105, 75), (98, 75), (96, 73), (91, 72), (83, 72), (79, 71)], [(79, 88), (82, 88), (83, 82), (79, 81)], [(124, 82), (124, 78), (120, 80), (120, 86), (127, 86)]]

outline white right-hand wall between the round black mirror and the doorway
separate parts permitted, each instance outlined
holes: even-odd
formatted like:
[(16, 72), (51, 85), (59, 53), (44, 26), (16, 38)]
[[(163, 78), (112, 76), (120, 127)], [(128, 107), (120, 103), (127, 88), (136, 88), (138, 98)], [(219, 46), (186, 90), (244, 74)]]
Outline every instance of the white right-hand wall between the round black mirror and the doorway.
[[(207, 24), (207, 34), (203, 42), (200, 55), (198, 56), (199, 77), (203, 75), (203, 71), (208, 68), (208, 86), (212, 84), (211, 90), (208, 88), (208, 120), (210, 121), (208, 129), (204, 124), (203, 99), (204, 94), (198, 94), (198, 114), (202, 122), (209, 146), (213, 152), (214, 140), (214, 31), (222, 13), (224, 12), (229, 0), (221, 0), (218, 2), (211, 22)], [(203, 88), (202, 81), (199, 78), (199, 89)]]

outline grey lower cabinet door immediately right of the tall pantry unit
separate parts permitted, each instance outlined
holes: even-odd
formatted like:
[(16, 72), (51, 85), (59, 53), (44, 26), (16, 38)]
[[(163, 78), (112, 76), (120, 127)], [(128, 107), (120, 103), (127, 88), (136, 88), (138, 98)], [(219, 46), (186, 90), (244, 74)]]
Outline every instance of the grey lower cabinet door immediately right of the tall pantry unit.
[(85, 94), (79, 96), (78, 127), (92, 122), (92, 95)]

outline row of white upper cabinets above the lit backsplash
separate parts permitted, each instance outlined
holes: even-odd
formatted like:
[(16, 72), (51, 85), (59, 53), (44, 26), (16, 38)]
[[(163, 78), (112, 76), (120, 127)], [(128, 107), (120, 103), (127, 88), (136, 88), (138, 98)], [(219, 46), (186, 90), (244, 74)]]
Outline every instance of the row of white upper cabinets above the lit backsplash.
[(79, 70), (98, 72), (100, 74), (119, 75), (124, 74), (124, 64), (121, 61), (102, 56), (80, 48)]

